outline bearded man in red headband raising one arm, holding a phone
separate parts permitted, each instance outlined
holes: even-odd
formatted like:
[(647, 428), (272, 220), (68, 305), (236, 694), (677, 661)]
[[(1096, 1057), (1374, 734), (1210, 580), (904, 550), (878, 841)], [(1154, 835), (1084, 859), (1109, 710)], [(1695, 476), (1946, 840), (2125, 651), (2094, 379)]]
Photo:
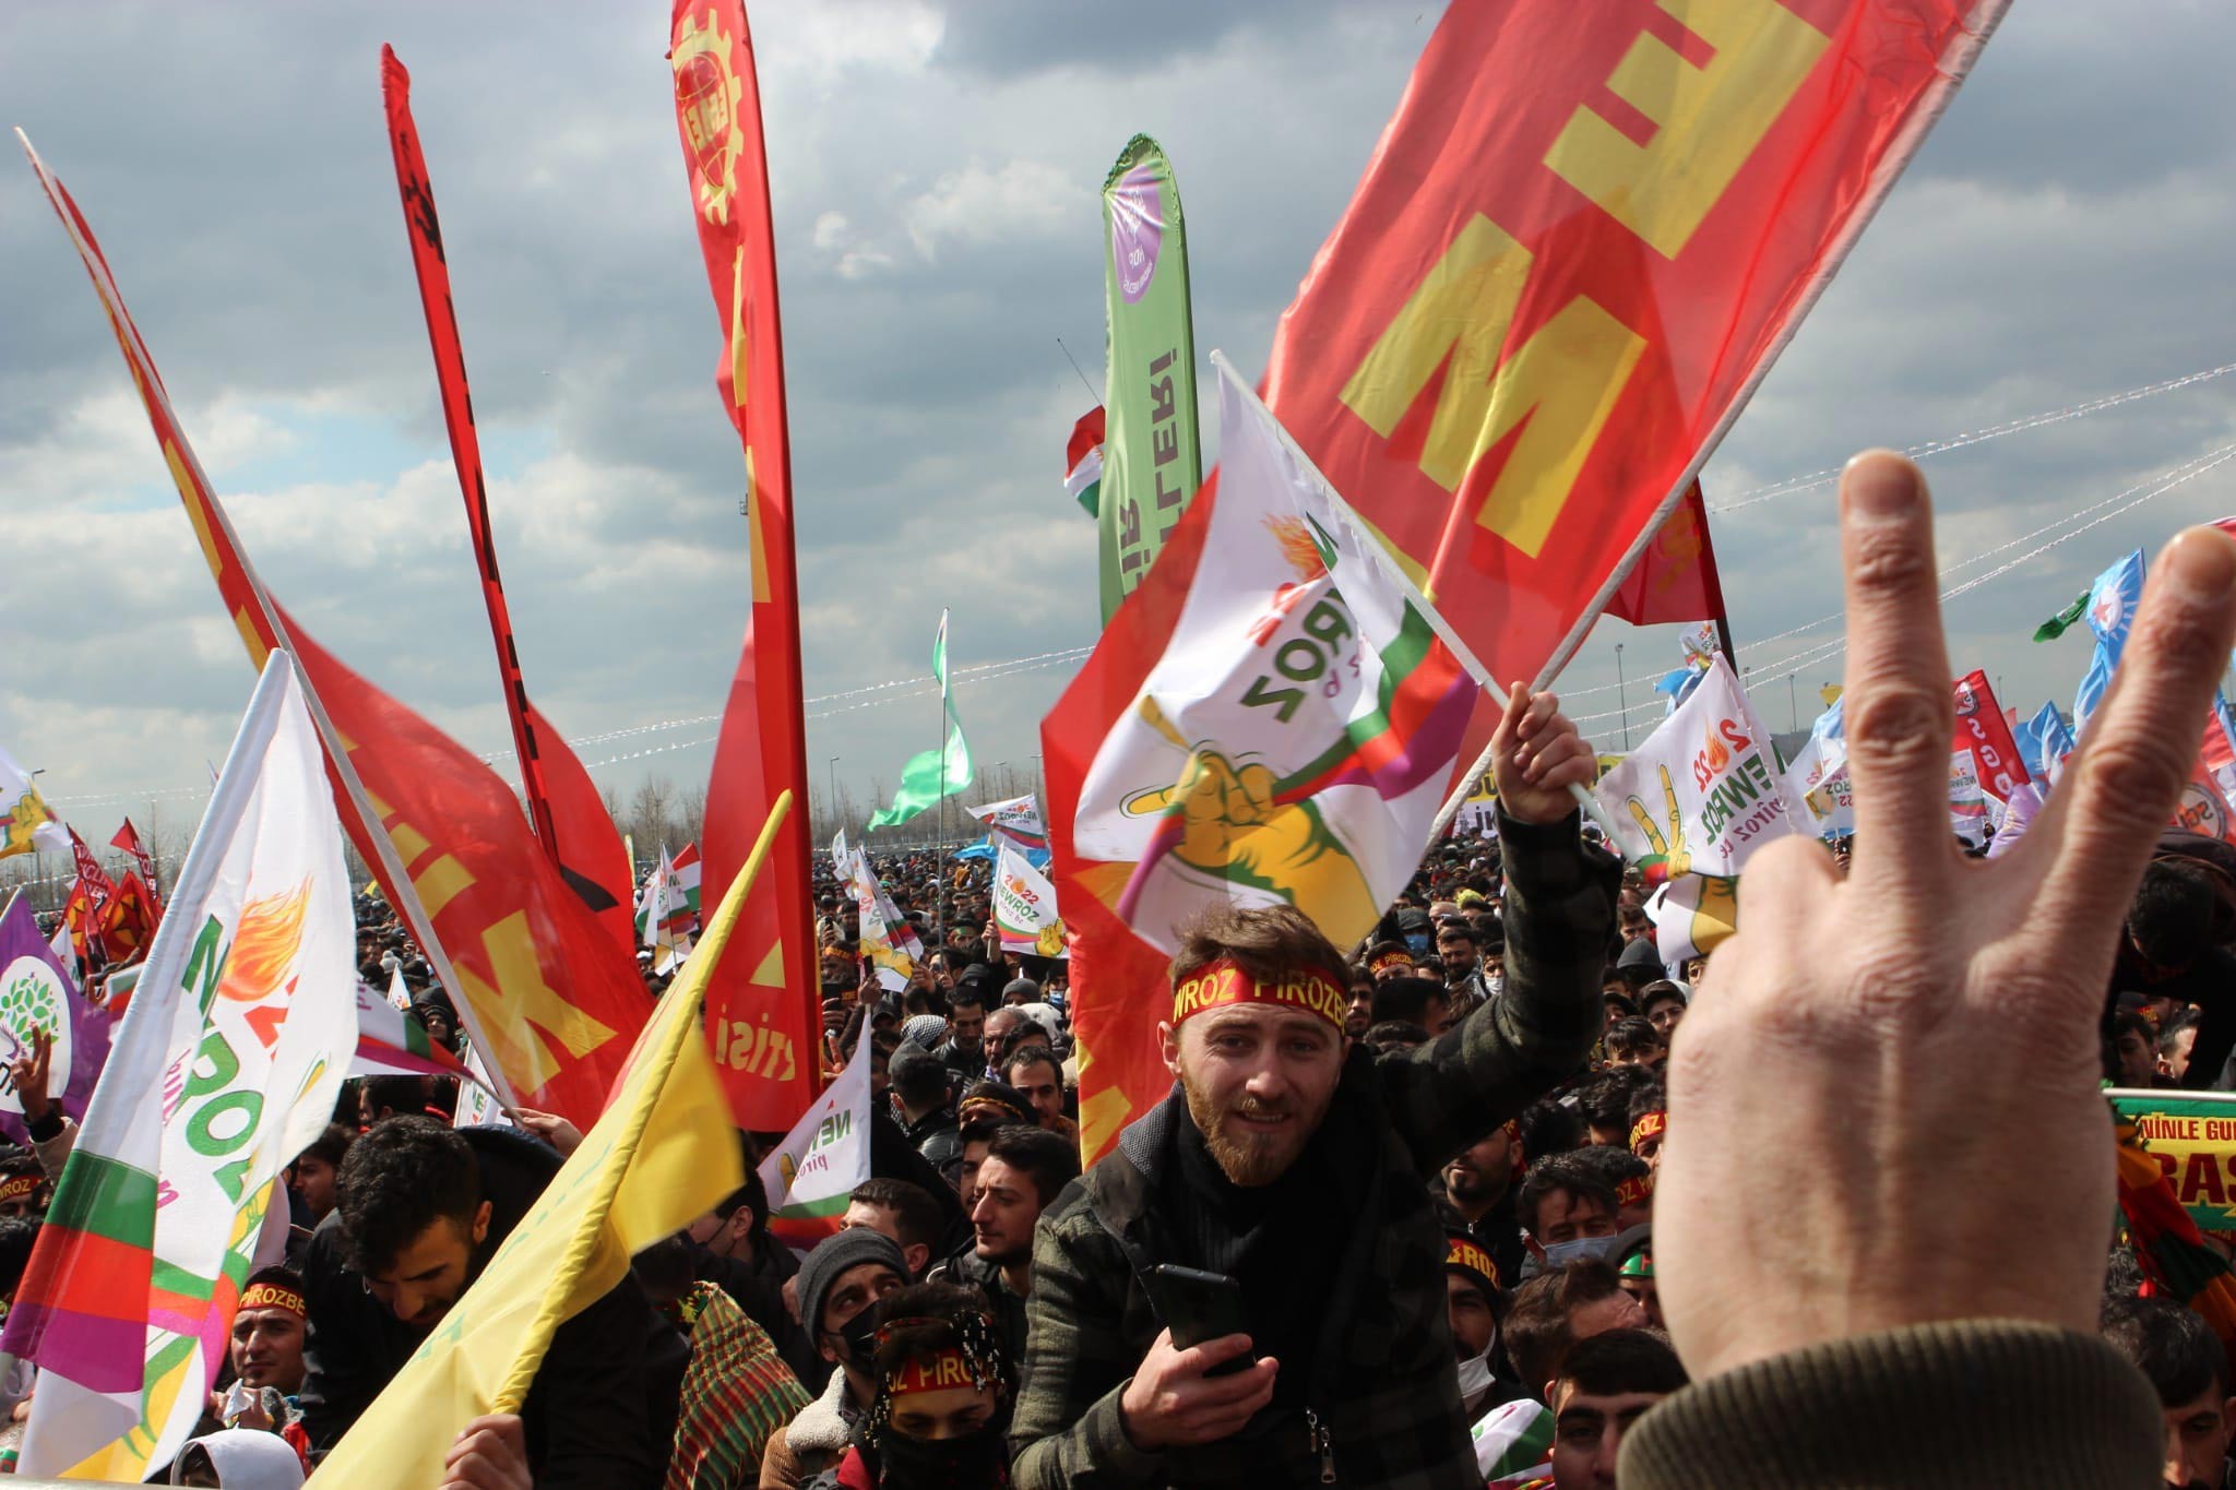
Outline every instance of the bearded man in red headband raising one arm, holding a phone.
[[(1348, 972), (1306, 916), (1185, 929), (1158, 1030), (1174, 1092), (1040, 1222), (1020, 1486), (1482, 1483), (1427, 1177), (1583, 1070), (1619, 878), (1567, 793), (1590, 746), (1552, 695), (1512, 704), (1496, 1003), (1420, 1050), (1346, 1052)], [(1176, 1347), (1158, 1264), (1232, 1278), (1245, 1331)]]

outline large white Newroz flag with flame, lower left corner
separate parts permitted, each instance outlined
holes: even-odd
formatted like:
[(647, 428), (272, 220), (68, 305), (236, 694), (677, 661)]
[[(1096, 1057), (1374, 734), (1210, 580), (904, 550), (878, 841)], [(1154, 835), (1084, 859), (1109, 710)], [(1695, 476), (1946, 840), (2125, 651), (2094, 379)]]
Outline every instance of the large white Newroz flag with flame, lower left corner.
[(324, 755), (275, 650), (0, 1334), (40, 1367), (22, 1474), (139, 1481), (192, 1434), (241, 1282), (286, 1240), (280, 1171), (349, 1068), (353, 943)]

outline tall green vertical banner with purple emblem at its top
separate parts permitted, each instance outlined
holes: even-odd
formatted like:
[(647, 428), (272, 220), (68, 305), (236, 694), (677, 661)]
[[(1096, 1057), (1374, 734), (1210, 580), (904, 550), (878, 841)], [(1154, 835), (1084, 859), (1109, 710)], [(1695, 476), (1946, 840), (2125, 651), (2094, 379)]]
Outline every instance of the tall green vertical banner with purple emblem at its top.
[(1102, 179), (1102, 270), (1111, 362), (1096, 520), (1109, 621), (1203, 485), (1181, 185), (1147, 134), (1129, 139)]

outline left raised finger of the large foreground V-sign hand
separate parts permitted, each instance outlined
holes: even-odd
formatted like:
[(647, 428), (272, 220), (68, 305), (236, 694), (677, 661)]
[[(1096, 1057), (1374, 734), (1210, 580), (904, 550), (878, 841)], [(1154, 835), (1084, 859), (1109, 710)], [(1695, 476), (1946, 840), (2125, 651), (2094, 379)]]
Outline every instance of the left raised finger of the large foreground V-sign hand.
[(1847, 581), (1847, 771), (1856, 789), (1849, 880), (1921, 905), (1954, 865), (1948, 827), (1948, 646), (1934, 576), (1934, 512), (1918, 467), (1865, 451), (1840, 476)]

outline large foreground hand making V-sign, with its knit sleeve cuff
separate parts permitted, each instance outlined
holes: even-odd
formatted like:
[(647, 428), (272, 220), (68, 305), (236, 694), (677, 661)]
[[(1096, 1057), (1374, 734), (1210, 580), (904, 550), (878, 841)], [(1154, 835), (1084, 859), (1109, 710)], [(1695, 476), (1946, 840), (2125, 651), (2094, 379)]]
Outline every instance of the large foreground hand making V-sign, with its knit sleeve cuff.
[[(1970, 1483), (2156, 1483), (2156, 1398), (2093, 1334), (2113, 1217), (2097, 1016), (2236, 639), (2236, 543), (2164, 550), (2048, 809), (1972, 862), (1948, 831), (1925, 483), (1858, 456), (1840, 518), (1854, 867), (1807, 838), (1764, 847), (1675, 1034), (1655, 1267), (1697, 1385), (1639, 1425), (1623, 1477), (1901, 1483), (1921, 1461), (1959, 1472), (1957, 1452)], [(1733, 1197), (1773, 1135), (1766, 1220)], [(1988, 1383), (1981, 1423), (1934, 1427)]]

